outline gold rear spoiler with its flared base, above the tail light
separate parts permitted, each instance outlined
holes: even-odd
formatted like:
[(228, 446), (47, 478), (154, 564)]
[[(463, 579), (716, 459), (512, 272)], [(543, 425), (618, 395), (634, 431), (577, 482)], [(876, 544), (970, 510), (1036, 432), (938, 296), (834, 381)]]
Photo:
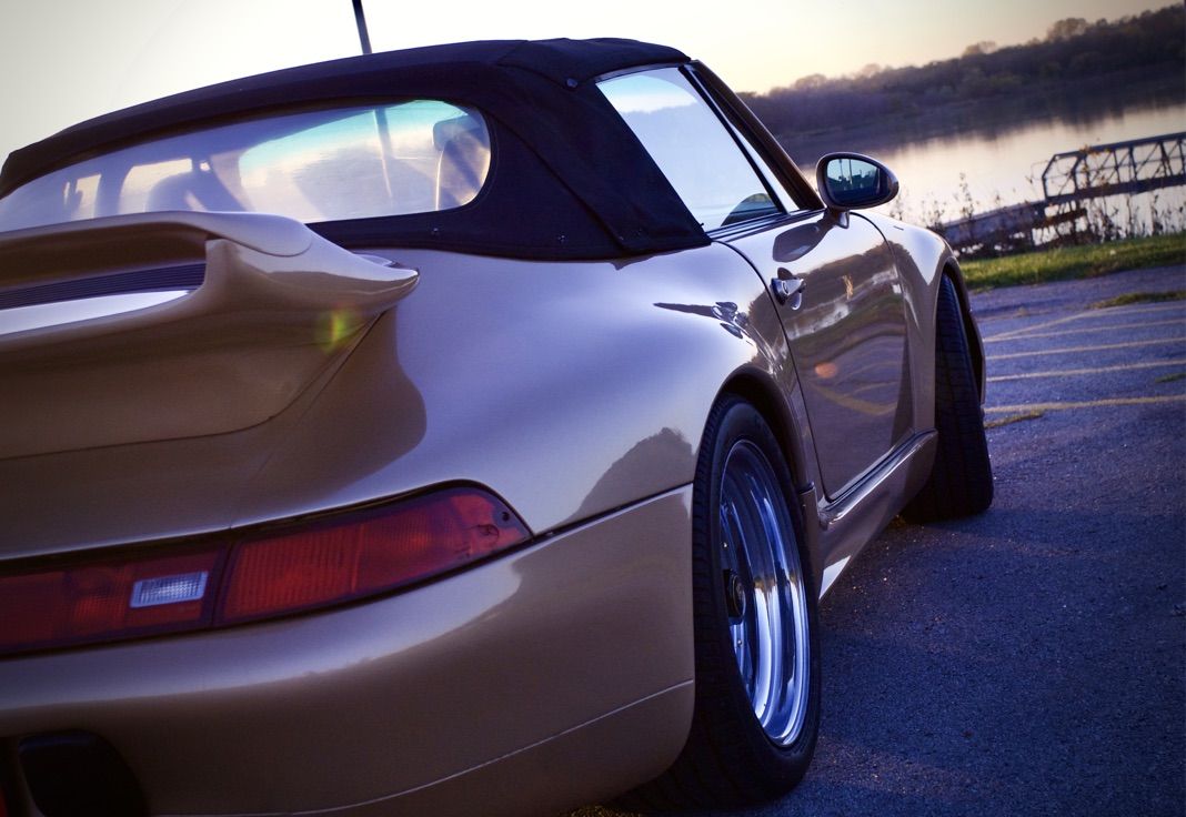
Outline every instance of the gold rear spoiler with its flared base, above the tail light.
[(0, 457), (263, 422), (340, 364), (417, 279), (262, 213), (138, 213), (0, 232), (0, 293), (195, 263), (203, 280), (184, 298), (0, 334)]

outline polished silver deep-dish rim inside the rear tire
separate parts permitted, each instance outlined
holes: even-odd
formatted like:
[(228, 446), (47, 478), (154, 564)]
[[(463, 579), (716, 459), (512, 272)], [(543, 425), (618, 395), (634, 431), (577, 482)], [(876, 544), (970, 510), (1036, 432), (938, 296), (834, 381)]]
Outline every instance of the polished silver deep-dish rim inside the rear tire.
[(720, 522), (726, 611), (741, 682), (763, 730), (785, 746), (806, 715), (806, 598), (778, 479), (747, 440), (725, 459)]

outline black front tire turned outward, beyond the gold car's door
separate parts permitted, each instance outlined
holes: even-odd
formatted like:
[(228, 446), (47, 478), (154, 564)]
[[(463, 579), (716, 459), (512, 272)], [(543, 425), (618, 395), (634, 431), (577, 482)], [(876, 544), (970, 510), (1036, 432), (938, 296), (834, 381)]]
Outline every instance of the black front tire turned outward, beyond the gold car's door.
[(946, 276), (935, 318), (935, 428), (939, 439), (931, 475), (903, 511), (911, 522), (971, 516), (993, 504), (984, 410), (959, 298)]

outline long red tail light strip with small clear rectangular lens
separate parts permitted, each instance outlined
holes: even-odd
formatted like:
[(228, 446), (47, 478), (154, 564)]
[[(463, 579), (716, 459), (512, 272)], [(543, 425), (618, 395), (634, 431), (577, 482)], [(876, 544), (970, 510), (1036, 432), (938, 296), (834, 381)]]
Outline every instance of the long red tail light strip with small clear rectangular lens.
[(529, 538), (505, 504), (449, 489), (168, 556), (0, 576), (0, 653), (217, 627), (362, 599)]

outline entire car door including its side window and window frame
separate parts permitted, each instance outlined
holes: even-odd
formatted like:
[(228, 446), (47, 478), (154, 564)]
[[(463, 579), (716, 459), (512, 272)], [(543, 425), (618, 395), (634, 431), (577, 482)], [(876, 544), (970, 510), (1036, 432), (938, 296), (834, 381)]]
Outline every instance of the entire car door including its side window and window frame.
[(822, 210), (783, 184), (785, 172), (723, 114), (695, 69), (649, 69), (600, 88), (709, 237), (744, 255), (771, 289), (823, 489), (842, 494), (911, 433), (892, 250), (868, 219)]

